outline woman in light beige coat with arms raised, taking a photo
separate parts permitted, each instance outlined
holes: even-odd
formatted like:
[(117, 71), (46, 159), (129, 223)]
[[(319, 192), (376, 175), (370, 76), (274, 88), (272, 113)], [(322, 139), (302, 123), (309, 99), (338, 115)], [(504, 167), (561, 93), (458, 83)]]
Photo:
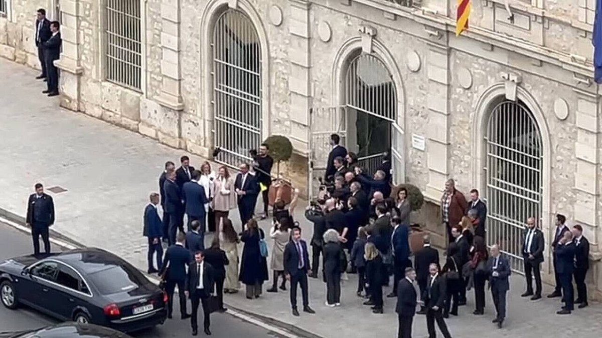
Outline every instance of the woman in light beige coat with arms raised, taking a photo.
[(288, 244), (291, 239), (291, 224), (290, 218), (282, 218), (281, 220), (274, 220), (274, 226), (270, 230), (270, 238), (273, 239), (272, 245), (272, 256), (270, 260), (270, 269), (273, 271), (273, 284), (271, 289), (267, 289), (267, 292), (278, 292), (278, 277), (282, 276), (282, 283), (280, 284), (281, 290), (286, 290), (285, 286), (287, 278), (284, 275), (284, 247)]

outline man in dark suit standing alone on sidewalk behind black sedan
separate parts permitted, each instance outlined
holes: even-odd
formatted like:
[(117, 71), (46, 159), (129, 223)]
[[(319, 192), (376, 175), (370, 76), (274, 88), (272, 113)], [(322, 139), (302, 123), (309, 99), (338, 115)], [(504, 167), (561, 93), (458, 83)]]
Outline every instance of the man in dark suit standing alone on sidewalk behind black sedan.
[(54, 224), (54, 201), (46, 195), (42, 183), (34, 186), (36, 193), (29, 195), (27, 201), (27, 217), (25, 223), (31, 227), (34, 241), (34, 255), (40, 254), (40, 236), (44, 242), (45, 253), (50, 253), (49, 227)]

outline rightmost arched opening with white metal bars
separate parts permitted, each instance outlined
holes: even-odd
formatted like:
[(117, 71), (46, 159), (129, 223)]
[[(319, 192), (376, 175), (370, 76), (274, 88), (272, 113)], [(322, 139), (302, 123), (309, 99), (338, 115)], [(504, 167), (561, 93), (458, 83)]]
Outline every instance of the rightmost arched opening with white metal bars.
[(500, 244), (512, 269), (523, 272), (524, 224), (529, 217), (542, 223), (541, 132), (520, 100), (497, 103), (486, 128), (487, 241)]

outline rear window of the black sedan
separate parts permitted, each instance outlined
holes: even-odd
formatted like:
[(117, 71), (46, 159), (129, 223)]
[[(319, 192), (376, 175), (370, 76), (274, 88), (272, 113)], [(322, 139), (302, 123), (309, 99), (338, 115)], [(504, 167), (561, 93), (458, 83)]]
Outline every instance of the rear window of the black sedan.
[(139, 271), (120, 265), (93, 272), (88, 276), (103, 295), (129, 292), (147, 283), (146, 278)]

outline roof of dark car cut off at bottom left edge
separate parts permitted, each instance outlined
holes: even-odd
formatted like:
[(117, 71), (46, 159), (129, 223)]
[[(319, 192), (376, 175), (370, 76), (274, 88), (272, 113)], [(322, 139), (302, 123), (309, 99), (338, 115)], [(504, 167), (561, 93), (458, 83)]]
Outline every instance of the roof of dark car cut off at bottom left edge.
[(125, 333), (93, 324), (63, 323), (38, 330), (0, 332), (0, 338), (131, 338)]

